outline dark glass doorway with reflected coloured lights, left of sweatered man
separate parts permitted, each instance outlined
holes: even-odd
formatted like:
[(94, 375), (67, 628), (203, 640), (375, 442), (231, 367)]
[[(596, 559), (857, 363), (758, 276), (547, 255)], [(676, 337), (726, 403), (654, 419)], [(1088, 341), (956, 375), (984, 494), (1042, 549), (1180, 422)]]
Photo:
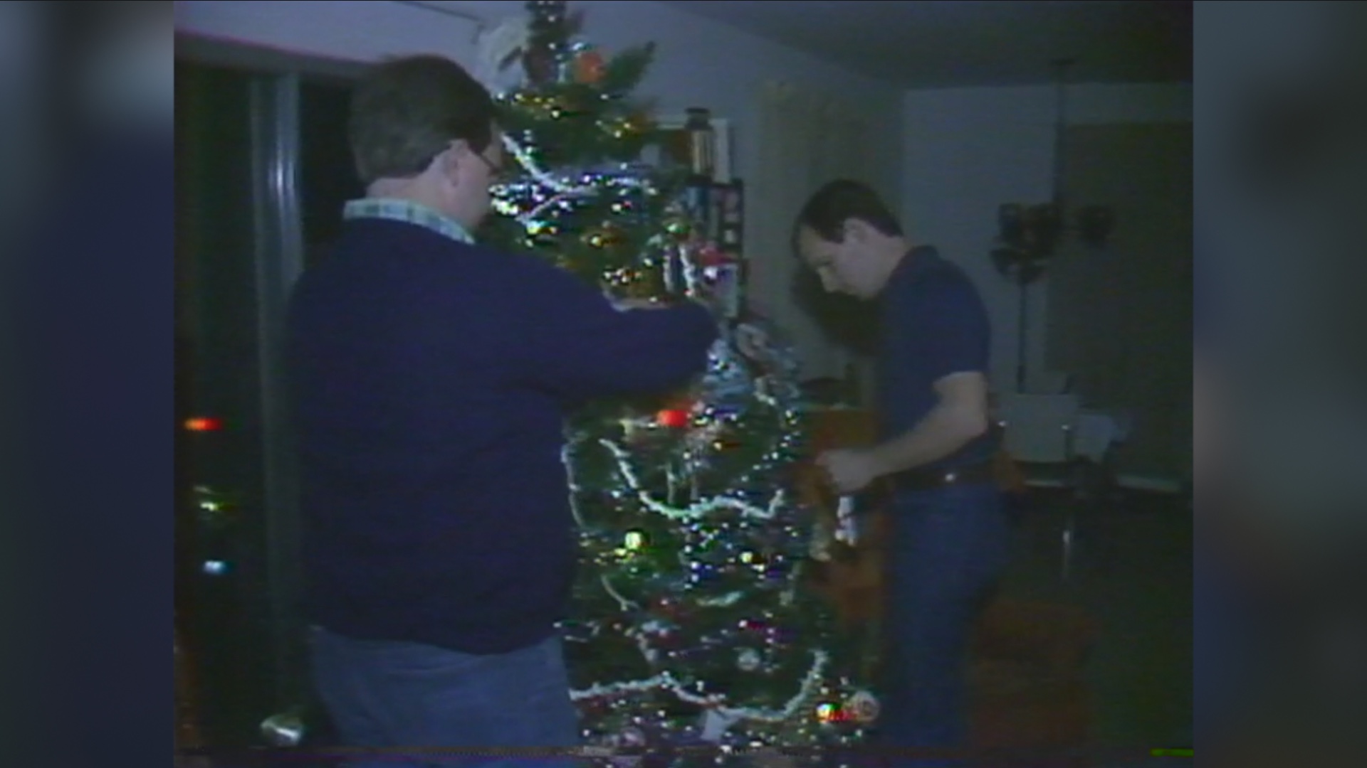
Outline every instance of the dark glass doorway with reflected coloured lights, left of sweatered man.
[(283, 324), (364, 189), (346, 74), (178, 49), (176, 625), (205, 741), (236, 749), (261, 746), (271, 715), (316, 712)]

